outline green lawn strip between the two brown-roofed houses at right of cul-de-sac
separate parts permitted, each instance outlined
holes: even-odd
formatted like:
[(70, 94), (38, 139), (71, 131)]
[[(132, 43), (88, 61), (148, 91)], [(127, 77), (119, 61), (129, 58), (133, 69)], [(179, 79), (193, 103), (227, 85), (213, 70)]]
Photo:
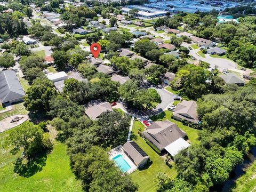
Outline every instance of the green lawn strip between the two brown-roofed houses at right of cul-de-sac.
[(198, 132), (199, 130), (197, 129), (193, 129), (189, 126), (186, 126), (186, 125), (183, 125), (181, 122), (179, 121), (176, 121), (174, 119), (172, 119), (173, 113), (171, 111), (164, 111), (162, 114), (159, 114), (158, 116), (153, 116), (153, 117), (150, 117), (153, 121), (156, 121), (157, 119), (162, 119), (162, 120), (165, 120), (165, 119), (168, 119), (169, 121), (175, 123), (178, 125), (178, 127), (180, 127), (180, 129), (182, 129), (183, 131), (185, 131), (187, 133), (187, 136), (188, 136), (188, 139), (190, 140), (191, 143), (199, 143), (199, 141), (197, 140), (198, 138)]

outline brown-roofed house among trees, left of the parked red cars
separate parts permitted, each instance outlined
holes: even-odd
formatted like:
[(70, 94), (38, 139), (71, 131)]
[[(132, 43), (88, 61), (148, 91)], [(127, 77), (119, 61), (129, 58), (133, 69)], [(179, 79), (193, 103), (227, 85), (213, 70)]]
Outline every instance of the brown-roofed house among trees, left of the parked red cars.
[(113, 111), (109, 102), (94, 103), (85, 108), (85, 114), (93, 120), (104, 115), (107, 111)]

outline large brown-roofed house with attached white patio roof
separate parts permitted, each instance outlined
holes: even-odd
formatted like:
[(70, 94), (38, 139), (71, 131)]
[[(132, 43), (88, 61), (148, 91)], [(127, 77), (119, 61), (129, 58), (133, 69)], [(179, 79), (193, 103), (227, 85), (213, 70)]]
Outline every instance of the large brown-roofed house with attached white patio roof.
[[(175, 156), (180, 150), (190, 146), (189, 143), (183, 139), (185, 138), (186, 133), (175, 123), (172, 123), (167, 119), (165, 121), (153, 122), (146, 131), (142, 132), (142, 135), (159, 151), (163, 151), (165, 149), (172, 156)], [(178, 139), (182, 141), (177, 141)], [(175, 144), (175, 141), (178, 143)]]

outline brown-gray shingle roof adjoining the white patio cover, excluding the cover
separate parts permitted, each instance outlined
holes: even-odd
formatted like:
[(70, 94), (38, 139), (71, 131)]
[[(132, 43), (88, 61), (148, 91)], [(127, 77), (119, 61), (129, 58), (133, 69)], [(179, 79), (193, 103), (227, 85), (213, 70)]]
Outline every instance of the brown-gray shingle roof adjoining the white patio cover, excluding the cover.
[(185, 132), (169, 120), (153, 122), (142, 134), (160, 151), (177, 139), (186, 136)]

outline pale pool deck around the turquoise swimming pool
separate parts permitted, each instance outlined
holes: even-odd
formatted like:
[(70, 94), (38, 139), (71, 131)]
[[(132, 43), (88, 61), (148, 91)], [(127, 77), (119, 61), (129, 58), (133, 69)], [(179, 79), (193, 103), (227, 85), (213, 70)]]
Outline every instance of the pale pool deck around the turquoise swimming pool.
[(117, 146), (114, 149), (111, 149), (109, 152), (109, 159), (113, 159), (117, 155), (122, 155), (124, 157), (124, 160), (131, 166), (131, 169), (128, 170), (126, 173), (131, 174), (132, 172), (136, 171), (138, 166), (136, 166), (131, 159), (124, 153), (124, 149), (122, 148), (121, 145)]

